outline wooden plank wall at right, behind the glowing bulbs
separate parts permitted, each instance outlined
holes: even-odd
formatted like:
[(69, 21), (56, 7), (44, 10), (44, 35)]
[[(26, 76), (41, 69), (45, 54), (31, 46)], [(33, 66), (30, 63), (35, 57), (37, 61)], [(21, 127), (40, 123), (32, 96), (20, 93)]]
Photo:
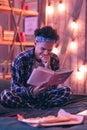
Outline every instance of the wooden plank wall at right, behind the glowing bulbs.
[[(87, 94), (87, 50), (85, 49), (85, 47), (87, 48), (87, 43), (85, 42), (85, 20), (87, 19), (86, 0), (83, 0), (81, 10), (79, 10), (80, 8), (78, 7), (81, 0), (63, 0), (65, 11), (62, 13), (60, 13), (57, 8), (59, 4), (58, 0), (50, 0), (50, 2), (54, 7), (54, 12), (51, 15), (47, 14), (47, 25), (51, 25), (57, 29), (60, 36), (60, 40), (57, 44), (59, 44), (58, 47), (61, 47), (61, 51), (58, 54), (61, 67), (73, 69), (73, 74), (65, 84), (68, 84), (74, 93)], [(69, 26), (70, 22), (73, 21), (72, 14), (74, 16), (79, 14), (79, 17), (76, 19), (78, 24), (76, 32), (75, 30), (71, 30)], [(73, 39), (77, 42), (77, 49), (71, 51), (68, 45), (70, 45)], [(83, 64), (86, 66), (86, 71), (84, 73), (80, 73), (79, 71), (79, 77), (77, 77), (78, 69)], [(82, 78), (80, 78), (80, 76), (82, 76)]]

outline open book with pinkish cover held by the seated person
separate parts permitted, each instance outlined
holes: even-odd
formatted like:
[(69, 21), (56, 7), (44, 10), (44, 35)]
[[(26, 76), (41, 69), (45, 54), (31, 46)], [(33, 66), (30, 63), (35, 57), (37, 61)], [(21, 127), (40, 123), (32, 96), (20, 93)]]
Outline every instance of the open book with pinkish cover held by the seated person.
[(51, 85), (58, 85), (64, 83), (72, 72), (72, 70), (67, 69), (59, 69), (57, 71), (53, 71), (47, 68), (38, 67), (33, 70), (27, 83), (33, 86), (38, 86), (42, 82), (46, 81), (50, 82)]

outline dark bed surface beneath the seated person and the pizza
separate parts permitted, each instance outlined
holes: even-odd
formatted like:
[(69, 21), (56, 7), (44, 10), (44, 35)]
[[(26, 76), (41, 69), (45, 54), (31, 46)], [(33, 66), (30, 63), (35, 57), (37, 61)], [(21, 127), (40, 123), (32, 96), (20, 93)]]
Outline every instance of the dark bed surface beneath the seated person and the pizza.
[[(71, 114), (77, 114), (87, 110), (87, 95), (72, 95), (70, 101), (61, 107)], [(43, 117), (48, 115), (57, 115), (60, 107), (49, 109), (11, 109), (0, 105), (0, 130), (87, 130), (87, 116), (84, 117), (83, 123), (79, 125), (60, 125), (49, 127), (32, 127), (27, 123), (18, 121), (17, 114), (29, 117)]]

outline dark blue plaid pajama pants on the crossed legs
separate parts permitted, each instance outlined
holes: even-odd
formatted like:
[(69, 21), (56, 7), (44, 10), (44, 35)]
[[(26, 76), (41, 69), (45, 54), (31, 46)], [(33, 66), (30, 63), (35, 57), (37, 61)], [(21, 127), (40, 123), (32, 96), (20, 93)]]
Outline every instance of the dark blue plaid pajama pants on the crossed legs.
[(61, 88), (51, 87), (44, 93), (39, 93), (36, 96), (19, 95), (16, 92), (4, 90), (1, 92), (1, 104), (10, 108), (50, 108), (58, 107), (66, 104), (70, 97), (70, 88), (62, 86)]

